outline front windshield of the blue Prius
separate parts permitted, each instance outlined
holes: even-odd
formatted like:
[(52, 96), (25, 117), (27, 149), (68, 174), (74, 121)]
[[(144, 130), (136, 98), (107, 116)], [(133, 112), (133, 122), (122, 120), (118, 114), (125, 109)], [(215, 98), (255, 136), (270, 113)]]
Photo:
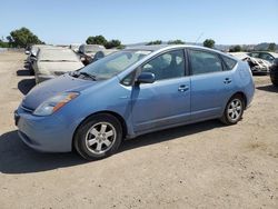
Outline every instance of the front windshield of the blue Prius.
[(122, 50), (82, 68), (80, 72), (89, 73), (98, 80), (110, 79), (150, 52), (151, 51)]

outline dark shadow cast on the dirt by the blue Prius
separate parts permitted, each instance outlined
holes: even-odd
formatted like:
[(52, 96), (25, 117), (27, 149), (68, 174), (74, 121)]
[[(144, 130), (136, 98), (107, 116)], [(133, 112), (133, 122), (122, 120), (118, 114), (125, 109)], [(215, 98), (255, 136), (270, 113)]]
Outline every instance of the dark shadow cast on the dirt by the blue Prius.
[[(179, 137), (190, 137), (190, 135), (220, 127), (222, 125), (218, 120), (209, 120), (143, 135), (123, 141), (118, 153)], [(20, 140), (16, 130), (0, 136), (0, 172), (3, 173), (39, 172), (88, 162), (76, 151), (69, 153), (37, 152)]]

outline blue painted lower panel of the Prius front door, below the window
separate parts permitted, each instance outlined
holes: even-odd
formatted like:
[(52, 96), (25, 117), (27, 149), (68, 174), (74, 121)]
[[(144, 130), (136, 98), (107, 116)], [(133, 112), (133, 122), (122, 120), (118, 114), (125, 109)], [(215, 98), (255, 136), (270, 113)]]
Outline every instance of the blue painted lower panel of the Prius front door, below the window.
[(183, 77), (136, 86), (132, 88), (131, 100), (136, 132), (188, 121), (190, 119), (190, 79)]

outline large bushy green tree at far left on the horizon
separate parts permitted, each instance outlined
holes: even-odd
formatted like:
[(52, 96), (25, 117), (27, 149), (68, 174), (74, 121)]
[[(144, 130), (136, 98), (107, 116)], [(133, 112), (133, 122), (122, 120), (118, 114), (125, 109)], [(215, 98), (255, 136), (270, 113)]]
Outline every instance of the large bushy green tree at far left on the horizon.
[(26, 48), (31, 44), (42, 44), (43, 42), (28, 28), (20, 28), (10, 32), (7, 37), (11, 47)]

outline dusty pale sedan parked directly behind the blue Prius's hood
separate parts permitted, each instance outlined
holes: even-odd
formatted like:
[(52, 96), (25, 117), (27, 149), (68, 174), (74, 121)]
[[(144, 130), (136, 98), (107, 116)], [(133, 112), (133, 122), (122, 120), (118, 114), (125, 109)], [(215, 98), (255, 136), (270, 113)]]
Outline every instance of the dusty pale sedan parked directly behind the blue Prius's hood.
[(40, 48), (33, 66), (36, 83), (82, 67), (79, 57), (68, 48)]

